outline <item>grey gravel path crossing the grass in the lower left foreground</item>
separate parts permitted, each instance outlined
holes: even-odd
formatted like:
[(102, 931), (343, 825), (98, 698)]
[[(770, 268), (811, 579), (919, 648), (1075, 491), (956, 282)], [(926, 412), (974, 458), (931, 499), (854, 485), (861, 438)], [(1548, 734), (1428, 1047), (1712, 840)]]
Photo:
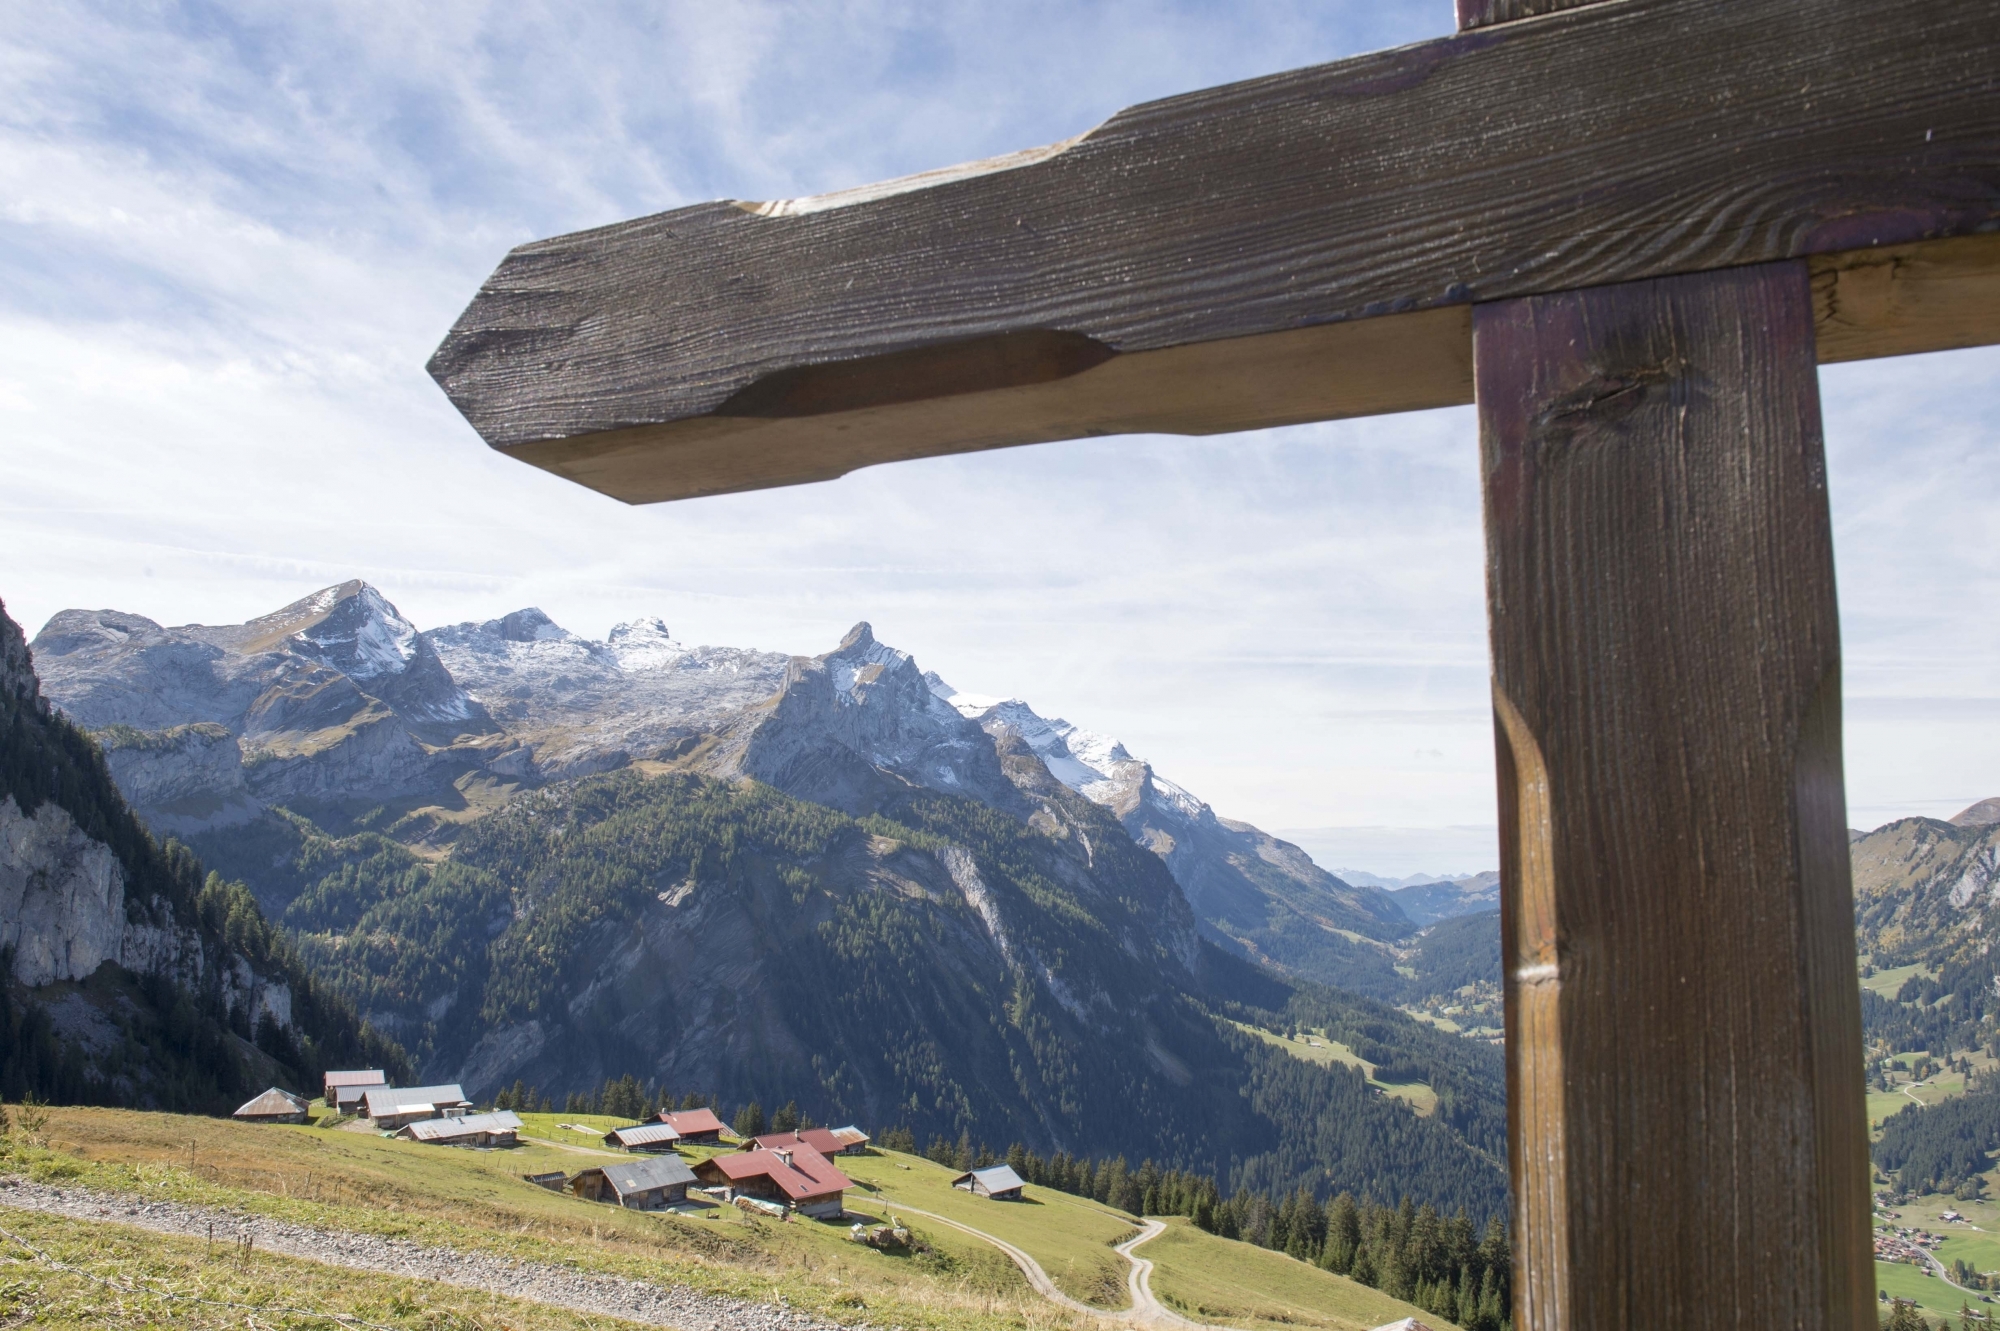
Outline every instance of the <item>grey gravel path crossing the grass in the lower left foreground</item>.
[(460, 1253), (450, 1247), (424, 1247), (408, 1239), (384, 1239), (364, 1233), (338, 1233), (290, 1225), (264, 1215), (190, 1207), (178, 1201), (140, 1201), (116, 1193), (96, 1193), (80, 1187), (48, 1187), (18, 1177), (0, 1177), (0, 1207), (44, 1211), (82, 1221), (136, 1225), (158, 1233), (178, 1233), (206, 1239), (210, 1225), (218, 1239), (232, 1243), (246, 1235), (256, 1249), (304, 1257), (354, 1271), (408, 1275), (462, 1289), (510, 1295), (532, 1303), (548, 1303), (578, 1313), (624, 1317), (650, 1327), (680, 1331), (838, 1331), (836, 1323), (820, 1321), (772, 1303), (746, 1303), (724, 1295), (706, 1295), (686, 1285), (648, 1285), (622, 1275), (592, 1275), (568, 1267), (546, 1267), (508, 1261), (484, 1253)]

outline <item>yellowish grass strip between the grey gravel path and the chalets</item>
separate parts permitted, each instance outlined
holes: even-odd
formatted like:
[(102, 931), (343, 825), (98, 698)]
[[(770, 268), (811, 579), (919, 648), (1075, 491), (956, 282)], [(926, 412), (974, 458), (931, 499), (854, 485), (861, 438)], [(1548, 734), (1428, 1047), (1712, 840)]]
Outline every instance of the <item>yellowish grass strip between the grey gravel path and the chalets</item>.
[[(0, 1149), (0, 1171), (742, 1299), (782, 1293), (836, 1321), (940, 1331), (1074, 1323), (990, 1245), (942, 1225), (914, 1225), (928, 1253), (890, 1255), (852, 1243), (846, 1223), (776, 1223), (736, 1207), (700, 1217), (622, 1211), (522, 1181), (596, 1159), (554, 1147), (462, 1151), (124, 1109), (58, 1109), (44, 1137), (48, 1149), (38, 1149), (16, 1133)], [(880, 1213), (866, 1195), (852, 1197), (852, 1209)], [(0, 1209), (0, 1223), (10, 1215)]]

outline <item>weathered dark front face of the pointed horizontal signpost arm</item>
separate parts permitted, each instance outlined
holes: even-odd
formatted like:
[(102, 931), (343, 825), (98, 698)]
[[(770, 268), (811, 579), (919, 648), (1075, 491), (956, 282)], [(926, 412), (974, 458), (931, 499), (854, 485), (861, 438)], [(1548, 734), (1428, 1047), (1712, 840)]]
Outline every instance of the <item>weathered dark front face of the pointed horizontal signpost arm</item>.
[[(1084, 368), (1106, 352), (1980, 228), (2000, 230), (1994, 0), (1604, 0), (1138, 106), (906, 186), (528, 244), (430, 368), (496, 448), (586, 470), (618, 454), (624, 498), (706, 494), (862, 466), (854, 410), (888, 414), (896, 456), (1098, 428), (1008, 404), (1108, 378), (1116, 362)], [(774, 418), (768, 382), (824, 410)], [(1102, 418), (1182, 428), (1156, 378), (1120, 382), (1132, 398), (1100, 396)], [(1434, 404), (1424, 388), (1386, 396)], [(770, 420), (790, 424), (742, 424)], [(684, 444), (700, 484), (674, 480)], [(766, 446), (804, 466), (766, 474)]]

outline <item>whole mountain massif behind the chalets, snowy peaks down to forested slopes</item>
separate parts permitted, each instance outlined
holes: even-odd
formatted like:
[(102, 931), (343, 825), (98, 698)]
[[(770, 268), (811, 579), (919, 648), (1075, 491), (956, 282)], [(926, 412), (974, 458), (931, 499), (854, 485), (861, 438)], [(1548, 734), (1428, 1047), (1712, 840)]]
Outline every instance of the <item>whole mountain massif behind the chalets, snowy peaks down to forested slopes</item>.
[[(1410, 925), (1386, 893), (1216, 819), (1130, 757), (1108, 759), (1108, 781), (1058, 777), (1024, 707), (968, 715), (866, 626), (774, 669), (770, 654), (686, 650), (658, 626), (588, 644), (532, 614), (412, 636), (366, 596), (334, 588), (270, 620), (388, 642), (368, 654), (376, 677), (434, 654), (464, 689), (458, 719), (406, 717), (352, 675), (314, 675), (348, 707), (326, 713), (332, 735), (274, 729), (262, 695), (214, 701), (244, 679), (270, 691), (330, 669), (324, 646), (276, 628), (66, 614), (44, 638), (52, 675), (78, 683), (126, 755), (120, 779), (206, 819), (188, 829), (200, 853), (422, 1075), (560, 1097), (630, 1073), (924, 1137), (1500, 1211), (1498, 1051), (1260, 971), (1242, 957), (1270, 949), (1218, 925), (1236, 911), (1250, 935), (1256, 911), (1292, 911), (1340, 943), (1380, 939), (1394, 977), (1386, 943)], [(360, 612), (318, 628), (348, 604)], [(212, 701), (126, 719), (120, 671)], [(622, 707), (636, 727), (620, 729)], [(394, 771), (420, 779), (378, 787), (342, 757), (362, 713), (392, 717), (380, 725), (418, 753)], [(204, 773), (226, 767), (214, 727), (246, 755), (242, 793), (200, 803)], [(294, 771), (322, 779), (264, 783), (250, 759), (270, 749), (316, 755)], [(608, 771), (576, 775), (594, 765)], [(1180, 821), (1144, 811), (1162, 791), (1182, 795)], [(1176, 861), (1202, 837), (1208, 851)], [(1194, 873), (1212, 915), (1190, 907), (1180, 877)], [(1258, 1035), (1296, 1029), (1300, 1003), (1366, 1067)], [(1416, 1113), (1382, 1075), (1434, 1087), (1436, 1107)]]

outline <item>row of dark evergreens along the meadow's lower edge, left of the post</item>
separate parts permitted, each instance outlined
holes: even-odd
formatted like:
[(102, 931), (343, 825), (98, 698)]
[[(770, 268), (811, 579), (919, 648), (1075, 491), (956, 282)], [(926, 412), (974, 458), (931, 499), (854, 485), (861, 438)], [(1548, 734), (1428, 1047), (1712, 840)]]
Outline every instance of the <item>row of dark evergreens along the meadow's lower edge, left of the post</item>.
[[(888, 1129), (878, 1145), (916, 1153), (908, 1127)], [(922, 1155), (954, 1169), (1002, 1163), (984, 1143), (974, 1145), (968, 1133), (956, 1141), (932, 1137)], [(1092, 1159), (1058, 1151), (1044, 1157), (1018, 1141), (1004, 1161), (1028, 1183), (1132, 1215), (1184, 1215), (1208, 1233), (1352, 1277), (1460, 1327), (1512, 1329), (1514, 1255), (1498, 1217), (1482, 1233), (1464, 1209), (1444, 1217), (1410, 1197), (1396, 1207), (1368, 1197), (1356, 1201), (1352, 1193), (1322, 1205), (1304, 1187), (1276, 1199), (1254, 1189), (1222, 1197), (1212, 1177), (1162, 1169), (1150, 1159), (1132, 1169), (1122, 1155)]]

